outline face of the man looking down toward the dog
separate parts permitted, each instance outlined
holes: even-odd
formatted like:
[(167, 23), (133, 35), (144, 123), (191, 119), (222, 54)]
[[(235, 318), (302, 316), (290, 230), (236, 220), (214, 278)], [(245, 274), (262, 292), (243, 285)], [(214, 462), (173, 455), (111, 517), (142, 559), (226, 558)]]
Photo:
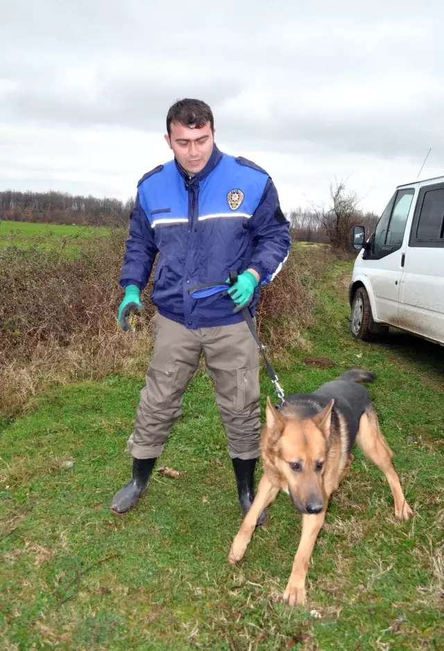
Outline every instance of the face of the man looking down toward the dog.
[(171, 122), (170, 130), (171, 135), (165, 134), (165, 140), (178, 163), (190, 176), (198, 174), (213, 151), (214, 131), (210, 122), (206, 122), (200, 129)]

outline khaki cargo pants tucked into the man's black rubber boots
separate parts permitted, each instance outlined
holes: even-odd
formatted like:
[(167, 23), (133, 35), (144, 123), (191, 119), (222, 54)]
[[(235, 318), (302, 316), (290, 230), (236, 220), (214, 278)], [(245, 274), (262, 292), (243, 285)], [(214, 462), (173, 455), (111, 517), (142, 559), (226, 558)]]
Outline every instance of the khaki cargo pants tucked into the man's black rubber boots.
[(227, 432), (230, 457), (259, 457), (259, 351), (246, 322), (187, 330), (157, 313), (153, 335), (146, 387), (140, 394), (135, 431), (128, 440), (131, 455), (149, 459), (162, 453), (203, 352), (207, 371), (216, 384), (216, 404)]

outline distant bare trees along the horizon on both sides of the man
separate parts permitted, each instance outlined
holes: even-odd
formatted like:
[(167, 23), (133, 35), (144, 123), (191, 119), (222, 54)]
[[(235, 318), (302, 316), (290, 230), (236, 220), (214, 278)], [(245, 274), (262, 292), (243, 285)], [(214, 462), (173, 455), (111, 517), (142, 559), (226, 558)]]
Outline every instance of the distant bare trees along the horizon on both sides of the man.
[[(66, 192), (0, 192), (0, 220), (39, 223), (78, 224), (81, 226), (127, 226), (134, 199), (74, 196)], [(379, 219), (374, 212), (359, 209), (357, 194), (345, 181), (330, 185), (327, 204), (296, 208), (287, 213), (291, 235), (299, 242), (332, 244), (336, 249), (350, 249), (351, 230), (355, 223), (371, 233)]]

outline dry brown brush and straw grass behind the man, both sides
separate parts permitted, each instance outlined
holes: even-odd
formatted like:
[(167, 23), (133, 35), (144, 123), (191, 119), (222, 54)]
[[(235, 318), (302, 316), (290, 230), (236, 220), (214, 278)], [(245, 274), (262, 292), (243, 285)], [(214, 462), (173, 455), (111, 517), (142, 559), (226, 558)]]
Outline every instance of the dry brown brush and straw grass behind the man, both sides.
[[(118, 285), (126, 230), (88, 238), (80, 257), (51, 250), (9, 246), (0, 254), (0, 410), (15, 414), (41, 389), (54, 383), (141, 374), (151, 348), (149, 300), (135, 332), (117, 325), (122, 298)], [(78, 244), (78, 241), (76, 242)], [(307, 348), (301, 332), (311, 321), (308, 276), (325, 260), (326, 247), (298, 247), (262, 291), (257, 328), (273, 353), (287, 346)], [(314, 264), (315, 263), (315, 264)], [(311, 269), (310, 269), (311, 267)]]

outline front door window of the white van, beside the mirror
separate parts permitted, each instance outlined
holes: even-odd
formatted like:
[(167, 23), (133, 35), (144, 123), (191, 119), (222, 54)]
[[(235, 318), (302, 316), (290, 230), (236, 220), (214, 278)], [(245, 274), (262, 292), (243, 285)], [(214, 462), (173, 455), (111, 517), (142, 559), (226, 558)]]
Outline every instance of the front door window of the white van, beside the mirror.
[[(415, 190), (413, 188), (399, 190), (394, 196), (394, 201), (392, 198), (391, 202), (388, 203), (375, 230), (373, 251), (376, 255), (392, 253), (402, 245), (405, 225), (407, 223), (407, 217), (409, 217), (414, 194)], [(392, 207), (393, 209), (390, 210), (387, 217), (386, 213)]]

